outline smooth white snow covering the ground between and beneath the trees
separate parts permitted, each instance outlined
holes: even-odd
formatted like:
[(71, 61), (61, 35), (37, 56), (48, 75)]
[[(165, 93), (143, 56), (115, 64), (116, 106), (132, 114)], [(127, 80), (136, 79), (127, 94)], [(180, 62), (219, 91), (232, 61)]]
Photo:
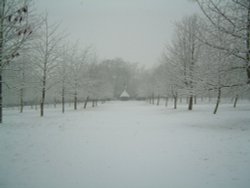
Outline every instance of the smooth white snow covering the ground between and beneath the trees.
[(0, 188), (248, 188), (250, 105), (5, 110)]

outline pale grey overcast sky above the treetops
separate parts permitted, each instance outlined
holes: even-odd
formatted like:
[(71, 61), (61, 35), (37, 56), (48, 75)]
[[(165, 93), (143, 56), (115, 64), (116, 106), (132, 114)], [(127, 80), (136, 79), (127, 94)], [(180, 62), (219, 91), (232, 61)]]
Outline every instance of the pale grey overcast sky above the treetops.
[(174, 23), (197, 13), (190, 0), (35, 0), (72, 43), (92, 45), (99, 59), (121, 57), (151, 66), (171, 40)]

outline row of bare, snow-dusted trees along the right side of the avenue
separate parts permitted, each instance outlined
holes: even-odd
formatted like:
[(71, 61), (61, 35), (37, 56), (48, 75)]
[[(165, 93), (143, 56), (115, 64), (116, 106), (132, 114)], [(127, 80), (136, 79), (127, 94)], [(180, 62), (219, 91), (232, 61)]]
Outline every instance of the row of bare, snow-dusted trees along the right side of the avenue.
[[(250, 1), (195, 0), (203, 15), (185, 17), (175, 24), (175, 35), (166, 45), (161, 63), (151, 73), (156, 95), (188, 98), (193, 109), (196, 96), (249, 96)], [(175, 108), (177, 102), (174, 103)]]

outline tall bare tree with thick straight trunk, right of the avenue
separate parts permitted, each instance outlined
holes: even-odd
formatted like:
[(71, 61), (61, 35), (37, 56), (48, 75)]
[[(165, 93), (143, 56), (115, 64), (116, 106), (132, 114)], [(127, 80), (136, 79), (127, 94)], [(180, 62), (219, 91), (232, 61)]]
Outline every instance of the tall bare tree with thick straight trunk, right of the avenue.
[(182, 65), (185, 92), (189, 95), (188, 110), (193, 109), (195, 87), (198, 76), (198, 58), (200, 53), (199, 18), (197, 15), (184, 18), (176, 27), (178, 56)]

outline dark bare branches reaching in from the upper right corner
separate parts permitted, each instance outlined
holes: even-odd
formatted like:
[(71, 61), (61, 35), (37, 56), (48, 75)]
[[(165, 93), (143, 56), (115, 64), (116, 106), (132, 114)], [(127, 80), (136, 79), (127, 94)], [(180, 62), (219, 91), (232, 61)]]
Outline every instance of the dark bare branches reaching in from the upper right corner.
[(225, 51), (238, 58), (240, 61), (236, 67), (246, 71), (246, 82), (250, 84), (250, 1), (195, 1), (209, 20), (210, 25), (207, 27), (207, 32), (213, 32), (213, 28), (218, 29), (227, 35), (227, 45), (215, 44), (205, 36), (201, 37), (200, 40), (217, 50)]

